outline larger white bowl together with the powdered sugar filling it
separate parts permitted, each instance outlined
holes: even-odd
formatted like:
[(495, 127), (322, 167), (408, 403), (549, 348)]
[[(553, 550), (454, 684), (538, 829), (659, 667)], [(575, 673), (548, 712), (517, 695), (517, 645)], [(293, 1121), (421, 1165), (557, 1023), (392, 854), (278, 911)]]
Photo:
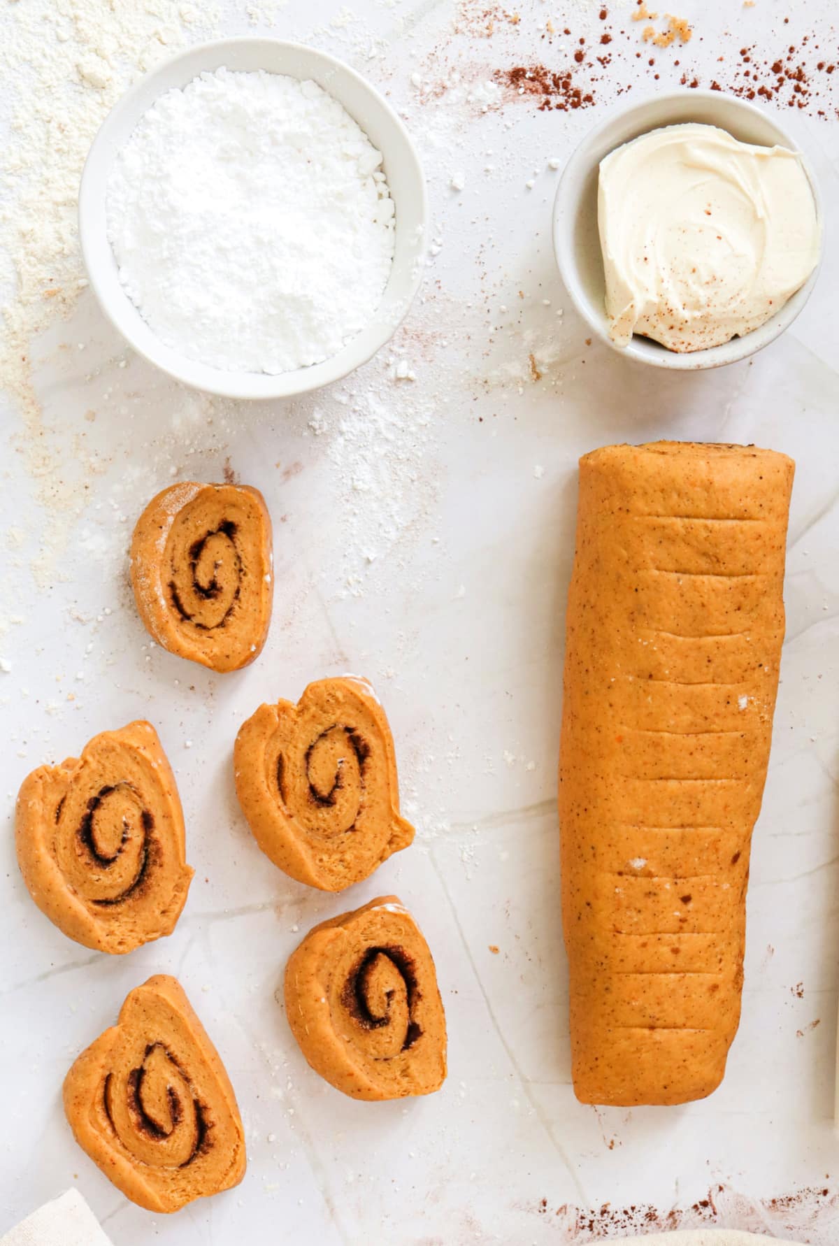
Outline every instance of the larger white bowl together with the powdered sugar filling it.
[(420, 283), (426, 197), (404, 126), (352, 69), (228, 39), (117, 103), (79, 218), (91, 285), (140, 354), (214, 394), (284, 397), (391, 336)]

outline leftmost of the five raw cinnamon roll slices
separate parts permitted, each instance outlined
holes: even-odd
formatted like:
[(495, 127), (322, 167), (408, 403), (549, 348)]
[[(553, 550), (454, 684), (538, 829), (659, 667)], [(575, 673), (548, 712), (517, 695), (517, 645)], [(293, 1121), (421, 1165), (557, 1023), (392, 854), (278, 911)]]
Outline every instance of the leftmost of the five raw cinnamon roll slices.
[(151, 723), (102, 731), (81, 758), (27, 775), (15, 842), (32, 900), (77, 943), (123, 953), (175, 930), (193, 871)]

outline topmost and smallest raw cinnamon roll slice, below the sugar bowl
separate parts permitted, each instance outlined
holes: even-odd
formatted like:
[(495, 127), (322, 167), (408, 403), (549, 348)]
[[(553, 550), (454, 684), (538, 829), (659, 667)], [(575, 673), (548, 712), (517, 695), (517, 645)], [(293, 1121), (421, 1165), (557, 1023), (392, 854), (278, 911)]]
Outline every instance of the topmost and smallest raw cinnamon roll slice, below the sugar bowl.
[(171, 485), (152, 498), (131, 541), (140, 617), (171, 653), (238, 670), (271, 623), (271, 517), (247, 485)]

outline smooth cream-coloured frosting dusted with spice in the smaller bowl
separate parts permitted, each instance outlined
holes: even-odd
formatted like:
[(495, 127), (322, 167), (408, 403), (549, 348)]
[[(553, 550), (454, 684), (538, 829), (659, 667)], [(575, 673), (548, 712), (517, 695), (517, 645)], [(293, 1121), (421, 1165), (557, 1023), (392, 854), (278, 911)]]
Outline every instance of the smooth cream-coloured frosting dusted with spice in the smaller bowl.
[(641, 135), (600, 163), (610, 335), (693, 351), (773, 316), (819, 259), (800, 156), (698, 123)]

